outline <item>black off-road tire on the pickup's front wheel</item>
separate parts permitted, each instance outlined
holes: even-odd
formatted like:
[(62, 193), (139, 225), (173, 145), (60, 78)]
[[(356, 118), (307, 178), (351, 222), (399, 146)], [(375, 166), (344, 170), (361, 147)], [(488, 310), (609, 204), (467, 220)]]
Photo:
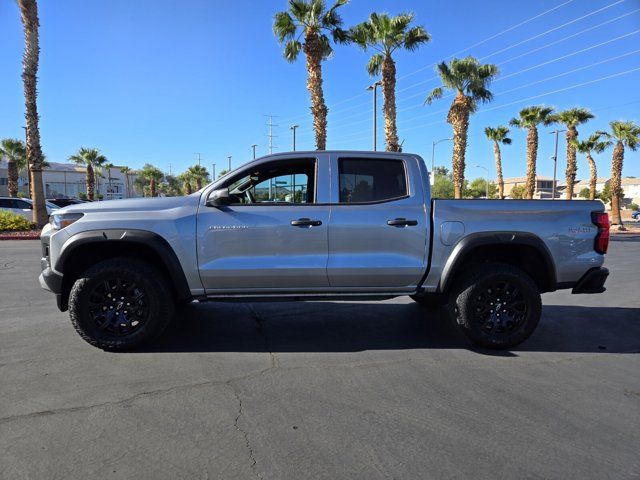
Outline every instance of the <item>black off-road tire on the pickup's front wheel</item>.
[[(99, 328), (104, 322), (98, 324), (94, 318), (95, 304), (90, 303), (90, 298), (95, 299), (96, 289), (104, 290), (106, 287), (102, 285), (113, 285), (117, 279), (125, 282), (125, 288), (134, 284), (137, 292), (144, 292), (144, 297), (140, 297), (144, 300), (144, 319), (138, 322), (139, 326), (131, 327), (128, 334), (118, 335)], [(127, 308), (115, 306), (118, 307)], [(93, 265), (80, 274), (69, 294), (69, 316), (74, 328), (86, 342), (103, 350), (134, 350), (151, 342), (169, 324), (173, 312), (173, 295), (164, 275), (152, 265), (132, 258), (112, 258)], [(120, 331), (119, 326), (116, 331)]]

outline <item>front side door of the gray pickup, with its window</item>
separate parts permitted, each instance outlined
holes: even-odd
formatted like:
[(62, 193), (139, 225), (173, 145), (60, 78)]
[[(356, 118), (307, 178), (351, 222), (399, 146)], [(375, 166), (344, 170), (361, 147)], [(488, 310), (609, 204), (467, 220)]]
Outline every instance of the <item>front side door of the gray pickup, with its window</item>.
[(198, 264), (208, 294), (327, 289), (329, 206), (317, 201), (321, 160), (267, 161), (215, 186), (229, 189), (230, 202), (201, 205), (198, 212)]

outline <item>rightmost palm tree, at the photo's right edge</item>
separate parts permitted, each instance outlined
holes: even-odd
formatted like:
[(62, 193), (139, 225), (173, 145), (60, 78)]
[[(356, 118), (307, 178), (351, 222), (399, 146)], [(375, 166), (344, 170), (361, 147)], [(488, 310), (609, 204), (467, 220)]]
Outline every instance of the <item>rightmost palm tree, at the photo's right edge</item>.
[(635, 151), (640, 144), (640, 127), (634, 122), (614, 121), (609, 124), (611, 133), (599, 132), (615, 141), (611, 159), (611, 223), (619, 225), (618, 230), (626, 230), (620, 218), (620, 194), (622, 190), (622, 163), (624, 147)]

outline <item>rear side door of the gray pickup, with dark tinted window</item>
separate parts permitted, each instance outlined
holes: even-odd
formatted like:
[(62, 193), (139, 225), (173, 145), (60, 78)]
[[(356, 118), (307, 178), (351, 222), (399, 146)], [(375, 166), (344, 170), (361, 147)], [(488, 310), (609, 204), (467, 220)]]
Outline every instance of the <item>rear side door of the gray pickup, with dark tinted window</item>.
[(332, 288), (402, 291), (420, 282), (429, 223), (418, 162), (406, 155), (332, 158)]

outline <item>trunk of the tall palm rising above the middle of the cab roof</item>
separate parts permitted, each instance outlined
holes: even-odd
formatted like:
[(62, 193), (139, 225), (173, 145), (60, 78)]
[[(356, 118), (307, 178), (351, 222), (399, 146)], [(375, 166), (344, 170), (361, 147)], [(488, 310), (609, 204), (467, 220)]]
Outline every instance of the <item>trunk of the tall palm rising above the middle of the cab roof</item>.
[(307, 58), (307, 90), (311, 95), (311, 114), (316, 135), (316, 149), (327, 148), (327, 113), (322, 91), (322, 45), (318, 34), (307, 31), (304, 43)]

